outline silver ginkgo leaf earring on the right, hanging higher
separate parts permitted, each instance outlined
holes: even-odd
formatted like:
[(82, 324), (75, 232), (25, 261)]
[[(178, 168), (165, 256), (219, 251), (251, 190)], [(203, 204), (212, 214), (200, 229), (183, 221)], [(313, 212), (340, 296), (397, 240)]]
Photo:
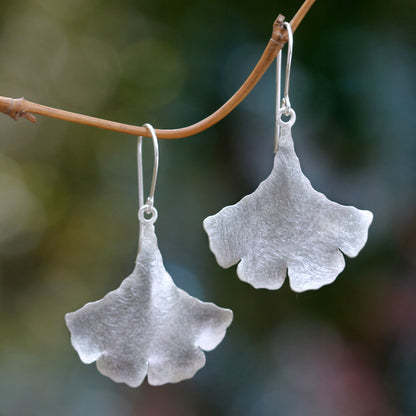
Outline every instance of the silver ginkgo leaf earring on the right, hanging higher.
[(293, 36), (290, 24), (284, 24), (289, 48), (272, 173), (252, 194), (206, 218), (204, 228), (219, 265), (239, 263), (241, 280), (278, 289), (287, 271), (291, 288), (302, 292), (335, 280), (345, 267), (341, 251), (349, 257), (359, 253), (373, 214), (330, 201), (302, 173), (291, 133), (296, 114), (288, 95)]

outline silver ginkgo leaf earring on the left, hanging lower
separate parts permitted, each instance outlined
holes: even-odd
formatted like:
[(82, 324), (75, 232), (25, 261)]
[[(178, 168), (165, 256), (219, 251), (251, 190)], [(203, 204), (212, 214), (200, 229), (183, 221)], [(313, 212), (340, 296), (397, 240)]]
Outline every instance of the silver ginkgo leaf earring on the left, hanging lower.
[(158, 170), (157, 137), (150, 196), (143, 202), (142, 138), (138, 139), (140, 234), (132, 274), (120, 287), (65, 316), (71, 342), (81, 360), (116, 382), (139, 386), (175, 383), (204, 366), (202, 350), (214, 349), (225, 336), (232, 311), (201, 302), (173, 283), (157, 245), (154, 192)]

